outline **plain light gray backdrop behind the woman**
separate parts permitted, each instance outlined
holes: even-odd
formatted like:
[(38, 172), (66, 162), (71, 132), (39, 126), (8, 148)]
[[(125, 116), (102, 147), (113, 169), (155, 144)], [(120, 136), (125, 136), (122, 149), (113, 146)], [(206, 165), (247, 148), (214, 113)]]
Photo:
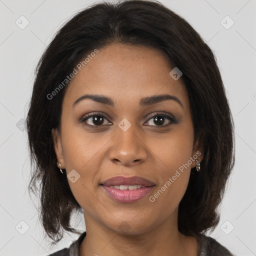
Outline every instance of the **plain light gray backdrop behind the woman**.
[[(36, 198), (34, 205), (27, 193), (30, 164), (23, 119), (43, 50), (66, 20), (94, 2), (0, 0), (0, 255), (47, 255), (78, 237), (66, 233), (52, 250), (50, 240), (43, 239)], [(256, 255), (256, 0), (160, 2), (184, 17), (214, 51), (234, 118), (235, 166), (220, 222), (208, 235), (235, 255)], [(81, 213), (71, 223), (85, 230)]]

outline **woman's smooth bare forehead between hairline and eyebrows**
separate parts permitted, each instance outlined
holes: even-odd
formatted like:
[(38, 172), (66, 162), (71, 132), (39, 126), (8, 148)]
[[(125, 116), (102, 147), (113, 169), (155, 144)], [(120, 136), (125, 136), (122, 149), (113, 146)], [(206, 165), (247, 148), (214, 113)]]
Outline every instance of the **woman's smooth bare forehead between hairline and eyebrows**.
[(88, 53), (86, 62), (80, 63), (65, 92), (66, 104), (86, 93), (104, 94), (117, 104), (139, 103), (141, 97), (169, 93), (188, 107), (184, 83), (169, 75), (173, 67), (160, 50), (112, 43), (96, 54)]

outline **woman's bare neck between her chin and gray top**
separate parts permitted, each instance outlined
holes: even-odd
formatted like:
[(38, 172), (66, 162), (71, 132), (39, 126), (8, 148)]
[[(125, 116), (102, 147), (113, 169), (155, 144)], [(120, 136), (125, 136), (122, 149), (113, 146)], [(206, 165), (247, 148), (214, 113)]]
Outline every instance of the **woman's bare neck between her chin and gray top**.
[(198, 253), (196, 239), (181, 234), (172, 218), (144, 232), (113, 230), (85, 214), (84, 219), (86, 236), (79, 247), (80, 256), (197, 256)]

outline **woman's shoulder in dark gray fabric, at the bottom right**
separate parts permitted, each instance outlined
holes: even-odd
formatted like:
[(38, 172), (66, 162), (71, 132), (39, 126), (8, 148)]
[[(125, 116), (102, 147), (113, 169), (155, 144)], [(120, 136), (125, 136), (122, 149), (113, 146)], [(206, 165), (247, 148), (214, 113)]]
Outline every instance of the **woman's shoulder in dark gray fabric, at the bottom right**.
[(200, 256), (234, 256), (231, 252), (209, 236), (202, 236)]

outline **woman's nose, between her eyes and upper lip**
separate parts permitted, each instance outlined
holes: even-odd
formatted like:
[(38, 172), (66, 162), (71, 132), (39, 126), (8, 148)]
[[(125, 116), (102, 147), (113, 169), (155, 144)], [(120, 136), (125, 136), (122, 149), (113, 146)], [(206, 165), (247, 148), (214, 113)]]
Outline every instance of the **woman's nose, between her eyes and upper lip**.
[(145, 141), (132, 126), (126, 131), (118, 127), (112, 138), (109, 159), (115, 164), (132, 166), (144, 162), (147, 158)]

